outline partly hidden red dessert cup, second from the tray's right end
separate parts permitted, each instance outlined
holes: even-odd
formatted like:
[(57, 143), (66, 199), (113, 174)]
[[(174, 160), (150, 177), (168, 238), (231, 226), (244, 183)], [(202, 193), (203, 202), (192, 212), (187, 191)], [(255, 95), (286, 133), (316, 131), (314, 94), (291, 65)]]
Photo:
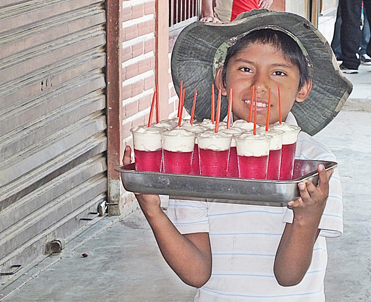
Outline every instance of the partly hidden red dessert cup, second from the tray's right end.
[(260, 127), (256, 130), (256, 132), (272, 136), (269, 146), (267, 179), (279, 180), (282, 153), (282, 137), (285, 132), (273, 129), (268, 129), (268, 131), (265, 131), (264, 127)]

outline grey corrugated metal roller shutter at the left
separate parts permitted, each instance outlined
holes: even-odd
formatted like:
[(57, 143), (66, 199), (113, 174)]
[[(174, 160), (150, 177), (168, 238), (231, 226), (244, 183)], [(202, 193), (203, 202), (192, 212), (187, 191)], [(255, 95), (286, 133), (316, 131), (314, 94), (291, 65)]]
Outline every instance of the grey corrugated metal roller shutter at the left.
[(107, 196), (105, 7), (0, 1), (0, 282)]

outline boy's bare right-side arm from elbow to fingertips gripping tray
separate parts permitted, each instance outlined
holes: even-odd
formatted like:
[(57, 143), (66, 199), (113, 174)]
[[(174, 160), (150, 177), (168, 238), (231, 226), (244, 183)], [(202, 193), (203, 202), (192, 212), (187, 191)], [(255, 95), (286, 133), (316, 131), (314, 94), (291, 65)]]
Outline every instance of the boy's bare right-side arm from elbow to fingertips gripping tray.
[(319, 185), (315, 187), (311, 181), (299, 183), (301, 197), (288, 203), (294, 219), (292, 224), (286, 223), (274, 264), (276, 279), (282, 286), (301, 282), (311, 264), (332, 172), (332, 169), (326, 172), (323, 165), (318, 165)]

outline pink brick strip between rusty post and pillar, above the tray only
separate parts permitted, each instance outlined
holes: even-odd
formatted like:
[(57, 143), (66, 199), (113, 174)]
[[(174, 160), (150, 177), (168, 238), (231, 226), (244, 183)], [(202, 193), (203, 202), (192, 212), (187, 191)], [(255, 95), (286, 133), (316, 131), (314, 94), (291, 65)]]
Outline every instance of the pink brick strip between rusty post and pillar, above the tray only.
[(130, 129), (148, 121), (155, 87), (155, 1), (122, 3), (122, 142), (132, 146)]

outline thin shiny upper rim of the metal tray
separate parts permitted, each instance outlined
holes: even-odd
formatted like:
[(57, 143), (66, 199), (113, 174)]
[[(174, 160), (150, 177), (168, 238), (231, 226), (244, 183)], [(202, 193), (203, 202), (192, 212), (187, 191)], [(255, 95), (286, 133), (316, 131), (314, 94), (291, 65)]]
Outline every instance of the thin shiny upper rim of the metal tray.
[[(336, 163), (335, 161), (328, 161), (328, 160), (301, 160), (301, 159), (295, 159), (295, 160), (300, 160), (300, 161), (320, 161), (322, 163), (326, 162), (328, 164), (325, 165), (325, 170), (329, 170), (331, 168), (336, 168), (338, 167), (338, 163)], [(223, 180), (233, 180), (233, 181), (242, 181), (242, 182), (261, 182), (261, 183), (276, 183), (276, 184), (293, 184), (293, 183), (299, 183), (303, 180), (306, 180), (308, 178), (311, 178), (313, 176), (316, 176), (318, 175), (318, 171), (312, 171), (308, 174), (305, 174), (299, 178), (296, 178), (296, 179), (292, 179), (292, 180), (267, 180), (267, 179), (244, 179), (244, 178), (237, 178), (237, 177), (217, 177), (217, 176), (202, 176), (202, 175), (191, 175), (191, 174), (172, 174), (172, 173), (164, 173), (164, 172), (147, 172), (147, 171), (136, 171), (136, 170), (131, 170), (131, 169), (125, 169), (125, 167), (127, 166), (130, 166), (134, 164), (133, 163), (130, 163), (130, 164), (127, 164), (127, 165), (121, 165), (121, 166), (117, 166), (117, 167), (114, 167), (114, 170), (118, 173), (135, 173), (135, 174), (151, 174), (152, 176), (153, 175), (156, 175), (156, 174), (159, 174), (161, 176), (173, 176), (173, 175), (177, 175), (177, 176), (180, 176), (180, 177), (196, 177), (196, 178), (200, 178), (200, 179), (223, 179)]]

